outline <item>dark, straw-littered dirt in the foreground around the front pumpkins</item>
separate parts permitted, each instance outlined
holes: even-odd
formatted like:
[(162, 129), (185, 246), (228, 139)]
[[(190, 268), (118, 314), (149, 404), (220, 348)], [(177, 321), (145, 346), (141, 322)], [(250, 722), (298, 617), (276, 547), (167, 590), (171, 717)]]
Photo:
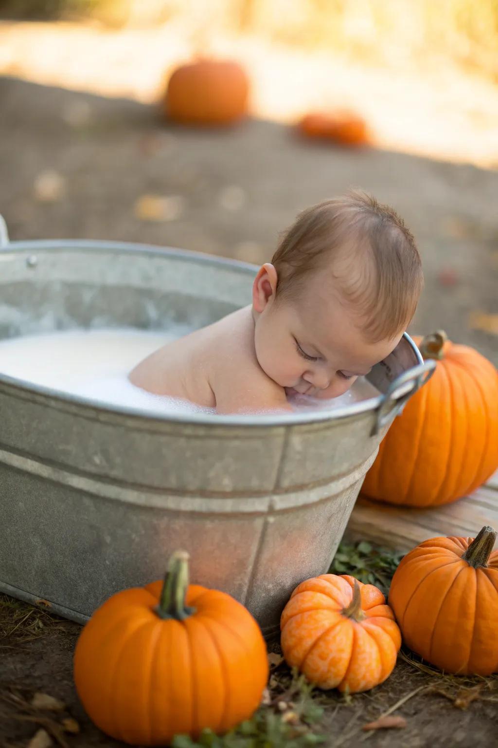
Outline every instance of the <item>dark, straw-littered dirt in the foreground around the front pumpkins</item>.
[[(11, 633), (6, 632), (7, 636), (2, 637), (6, 609), (0, 606), (0, 747), (25, 747), (40, 727), (50, 728), (52, 736), (59, 735), (60, 741), (54, 741), (54, 745), (61, 748), (122, 745), (96, 729), (78, 702), (72, 684), (72, 651), (80, 626), (19, 604), (21, 618), (30, 610), (31, 620), (41, 621), (43, 628), (34, 625), (31, 631), (22, 632), (22, 628), (12, 631), (10, 626)], [(372, 748), (446, 748), (448, 744), (493, 748), (496, 745), (498, 677), (443, 678), (431, 669), (428, 672), (421, 669), (423, 666), (417, 660), (407, 661), (403, 656), (399, 657), (390, 678), (367, 693), (349, 698), (337, 691), (316, 693), (314, 703), (323, 706), (324, 714), (314, 729), (325, 736), (326, 748), (356, 747), (365, 741)], [(272, 696), (278, 693), (279, 674), (285, 672), (284, 665), (274, 671), (270, 681)], [(30, 710), (26, 702), (37, 691), (60, 699), (66, 709), (62, 713)], [(404, 717), (405, 727), (363, 732), (362, 726), (396, 704), (399, 707), (393, 715)], [(47, 717), (52, 719), (49, 728), (43, 721)], [(78, 722), (79, 734), (52, 732), (67, 717)]]

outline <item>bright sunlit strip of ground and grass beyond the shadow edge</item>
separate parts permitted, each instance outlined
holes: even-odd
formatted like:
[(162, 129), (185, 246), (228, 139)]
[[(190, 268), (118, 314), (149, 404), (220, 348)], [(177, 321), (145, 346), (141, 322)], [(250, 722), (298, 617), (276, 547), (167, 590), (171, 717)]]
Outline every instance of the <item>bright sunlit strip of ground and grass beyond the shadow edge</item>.
[[(376, 143), (498, 164), (496, 0), (11, 0), (0, 70), (153, 102), (179, 60), (234, 58), (252, 113), (353, 106)], [(63, 19), (54, 22), (55, 19)]]

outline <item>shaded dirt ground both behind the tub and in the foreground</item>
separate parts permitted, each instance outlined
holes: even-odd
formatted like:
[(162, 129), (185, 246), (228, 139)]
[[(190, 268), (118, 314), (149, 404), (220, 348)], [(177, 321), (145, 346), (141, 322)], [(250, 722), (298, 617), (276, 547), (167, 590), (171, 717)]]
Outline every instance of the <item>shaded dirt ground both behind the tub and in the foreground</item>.
[[(498, 172), (309, 144), (256, 120), (224, 132), (178, 129), (137, 102), (17, 79), (0, 79), (0, 102), (0, 212), (10, 239), (119, 239), (261, 263), (299, 209), (361, 186), (392, 203), (417, 236), (426, 289), (411, 331), (445, 328), (498, 363)], [(0, 627), (0, 745), (25, 746), (36, 729), (4, 698), (16, 688), (25, 699), (38, 690), (66, 702), (81, 726), (64, 738), (69, 747), (115, 744), (75, 696), (78, 625), (46, 620), (43, 637), (22, 641), (12, 628), (2, 635)], [(396, 710), (404, 729), (361, 732), (422, 686)], [(467, 686), (479, 698), (465, 707)], [(331, 748), (364, 741), (383, 748), (496, 745), (496, 678), (446, 681), (400, 660), (372, 692), (324, 698)]]

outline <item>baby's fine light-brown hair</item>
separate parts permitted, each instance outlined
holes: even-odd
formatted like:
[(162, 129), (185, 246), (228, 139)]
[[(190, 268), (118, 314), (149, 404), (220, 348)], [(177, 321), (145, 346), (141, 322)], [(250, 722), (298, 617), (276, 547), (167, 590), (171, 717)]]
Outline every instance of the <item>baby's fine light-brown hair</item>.
[(302, 289), (305, 277), (327, 263), (339, 298), (361, 316), (372, 343), (404, 330), (423, 287), (422, 263), (402, 218), (362, 191), (311, 206), (284, 232), (273, 255), (276, 299)]

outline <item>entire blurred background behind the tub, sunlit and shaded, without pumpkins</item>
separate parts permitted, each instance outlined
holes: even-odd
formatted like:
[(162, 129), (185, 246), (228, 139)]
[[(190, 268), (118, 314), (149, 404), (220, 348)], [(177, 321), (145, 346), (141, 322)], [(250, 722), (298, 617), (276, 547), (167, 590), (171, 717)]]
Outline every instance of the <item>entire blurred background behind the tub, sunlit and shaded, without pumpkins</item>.
[[(230, 126), (170, 116), (172, 72), (200, 59), (246, 75)], [(345, 111), (364, 137), (299, 126)], [(250, 263), (300, 209), (364, 188), (420, 246), (411, 332), (498, 363), (498, 0), (0, 0), (0, 169), (10, 239)]]

